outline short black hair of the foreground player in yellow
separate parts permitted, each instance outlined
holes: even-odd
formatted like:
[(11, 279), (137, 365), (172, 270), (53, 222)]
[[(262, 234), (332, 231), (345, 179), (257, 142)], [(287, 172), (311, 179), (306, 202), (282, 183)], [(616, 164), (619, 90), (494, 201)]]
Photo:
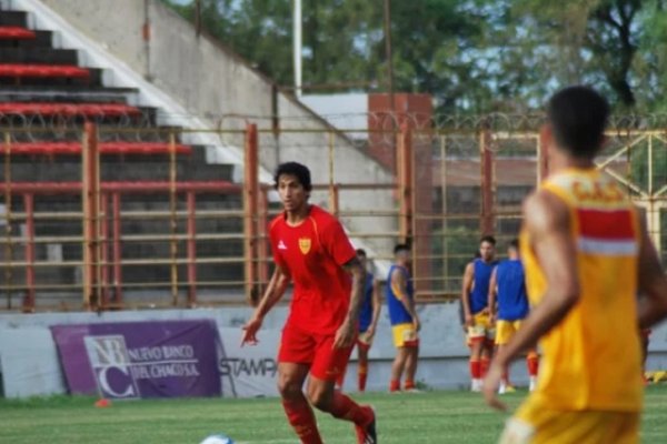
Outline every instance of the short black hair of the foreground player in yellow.
[(609, 103), (589, 87), (568, 87), (547, 103), (556, 143), (576, 158), (593, 159), (603, 144)]

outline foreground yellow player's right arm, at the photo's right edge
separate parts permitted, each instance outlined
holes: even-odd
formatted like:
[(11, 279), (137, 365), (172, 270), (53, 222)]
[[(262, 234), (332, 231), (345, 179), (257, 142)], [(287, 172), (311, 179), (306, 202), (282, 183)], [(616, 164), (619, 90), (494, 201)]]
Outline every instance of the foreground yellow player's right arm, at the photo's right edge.
[(648, 236), (644, 219), (640, 224), (638, 284), (645, 295), (639, 303), (639, 326), (648, 329), (667, 315), (667, 279), (656, 249)]

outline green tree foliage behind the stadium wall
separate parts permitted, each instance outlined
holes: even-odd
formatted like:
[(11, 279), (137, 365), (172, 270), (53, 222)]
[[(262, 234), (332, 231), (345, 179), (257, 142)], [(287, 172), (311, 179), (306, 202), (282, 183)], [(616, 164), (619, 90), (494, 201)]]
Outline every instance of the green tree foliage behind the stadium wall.
[[(193, 20), (195, 2), (179, 6)], [(170, 2), (171, 1), (171, 2)], [(292, 0), (200, 0), (202, 24), (292, 83)], [(667, 0), (392, 0), (397, 91), (446, 112), (525, 111), (589, 83), (621, 111), (667, 108)], [(384, 90), (382, 1), (302, 0), (303, 83)]]

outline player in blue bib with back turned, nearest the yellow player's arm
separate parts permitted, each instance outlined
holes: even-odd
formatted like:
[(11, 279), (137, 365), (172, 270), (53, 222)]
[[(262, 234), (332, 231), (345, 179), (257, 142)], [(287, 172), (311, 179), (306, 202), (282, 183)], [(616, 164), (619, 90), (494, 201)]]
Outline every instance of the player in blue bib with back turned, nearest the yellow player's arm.
[[(521, 321), (528, 315), (528, 295), (526, 294), (526, 278), (524, 265), (519, 258), (519, 241), (512, 240), (507, 248), (506, 261), (496, 266), (489, 284), (489, 311), (491, 322), (496, 321), (496, 345), (500, 351), (511, 336), (521, 327)], [(537, 377), (537, 353), (528, 352), (526, 359), (530, 391), (535, 389)], [(509, 371), (505, 369), (499, 393), (514, 392), (509, 383)]]

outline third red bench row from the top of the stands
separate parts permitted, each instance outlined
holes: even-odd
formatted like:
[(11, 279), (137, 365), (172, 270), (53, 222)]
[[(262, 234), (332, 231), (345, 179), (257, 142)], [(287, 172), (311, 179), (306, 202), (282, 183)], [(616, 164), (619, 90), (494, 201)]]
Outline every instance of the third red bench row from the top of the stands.
[(0, 103), (0, 114), (17, 115), (140, 115), (141, 110), (125, 103)]

